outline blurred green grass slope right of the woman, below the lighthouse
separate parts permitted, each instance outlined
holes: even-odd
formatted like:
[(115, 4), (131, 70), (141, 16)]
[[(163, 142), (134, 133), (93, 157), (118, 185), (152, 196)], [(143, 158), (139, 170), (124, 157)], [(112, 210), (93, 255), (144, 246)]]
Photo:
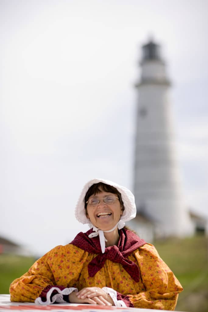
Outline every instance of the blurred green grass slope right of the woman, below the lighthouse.
[(154, 246), (183, 286), (176, 310), (208, 312), (208, 239), (172, 238)]

